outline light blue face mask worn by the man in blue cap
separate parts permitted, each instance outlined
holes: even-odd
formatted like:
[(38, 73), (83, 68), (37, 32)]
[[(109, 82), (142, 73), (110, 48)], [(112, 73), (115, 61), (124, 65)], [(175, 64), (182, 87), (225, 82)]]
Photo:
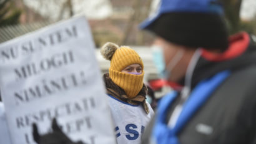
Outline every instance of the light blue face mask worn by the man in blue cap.
[(172, 60), (170, 60), (169, 64), (167, 64), (165, 67), (164, 52), (162, 50), (162, 47), (154, 45), (151, 48), (153, 52), (153, 61), (155, 67), (157, 68), (159, 77), (168, 80), (172, 69), (174, 69), (175, 65), (177, 65), (180, 59), (182, 59), (182, 56), (184, 55), (184, 50), (178, 50), (177, 54), (174, 55)]

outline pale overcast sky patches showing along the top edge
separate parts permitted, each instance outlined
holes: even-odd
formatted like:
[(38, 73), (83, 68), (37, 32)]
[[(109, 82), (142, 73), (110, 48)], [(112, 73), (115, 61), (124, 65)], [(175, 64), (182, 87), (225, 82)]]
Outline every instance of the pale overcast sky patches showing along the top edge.
[[(1, 0), (0, 0), (1, 1)], [(47, 16), (51, 19), (57, 19), (59, 11), (61, 10), (61, 3), (65, 0), (59, 0), (59, 7), (54, 4), (52, 0), (44, 1), (31, 1), (24, 0), (25, 4), (32, 7), (43, 16)], [(75, 14), (84, 13), (88, 18), (104, 18), (112, 14), (111, 3), (109, 0), (73, 0), (73, 10)], [(152, 3), (152, 9), (155, 10), (159, 0), (154, 0)], [(52, 3), (52, 4), (50, 4)], [(153, 10), (153, 11), (154, 11)], [(52, 12), (54, 11), (54, 12)], [(242, 0), (242, 6), (240, 9), (240, 17), (242, 19), (252, 19), (256, 14), (256, 0)]]

